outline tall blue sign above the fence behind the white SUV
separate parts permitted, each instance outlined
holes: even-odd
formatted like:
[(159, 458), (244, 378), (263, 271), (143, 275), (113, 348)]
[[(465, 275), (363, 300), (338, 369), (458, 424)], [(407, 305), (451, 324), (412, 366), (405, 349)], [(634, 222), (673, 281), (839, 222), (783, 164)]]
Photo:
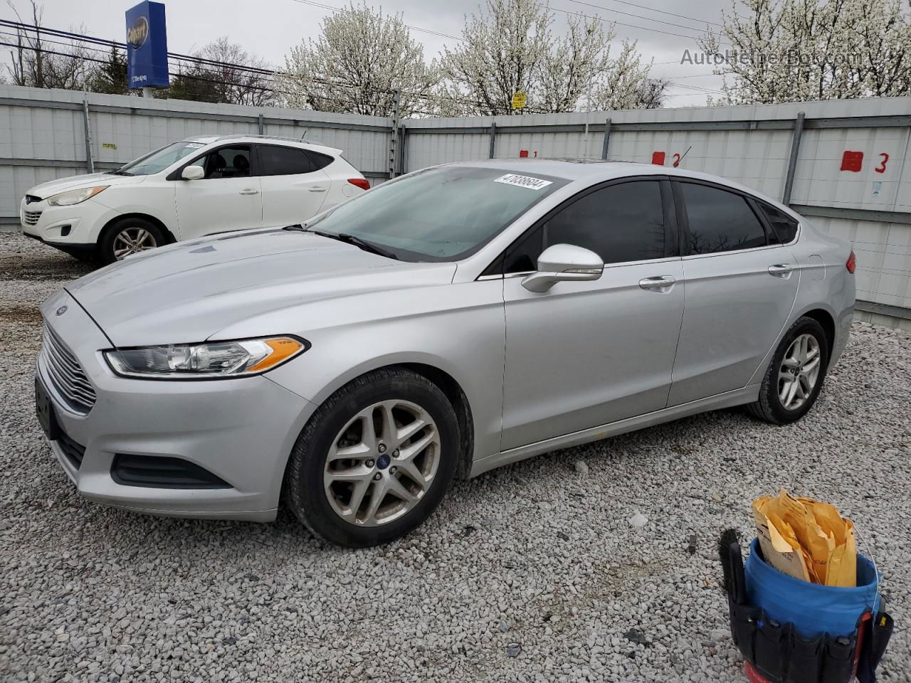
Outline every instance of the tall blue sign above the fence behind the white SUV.
[(127, 10), (127, 82), (134, 87), (168, 87), (165, 5), (146, 0)]

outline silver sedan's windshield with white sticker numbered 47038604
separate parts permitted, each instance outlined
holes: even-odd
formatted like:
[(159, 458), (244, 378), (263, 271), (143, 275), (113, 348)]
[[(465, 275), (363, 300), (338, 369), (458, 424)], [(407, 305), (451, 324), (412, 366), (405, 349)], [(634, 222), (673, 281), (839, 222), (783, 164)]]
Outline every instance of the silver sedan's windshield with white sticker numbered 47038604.
[(353, 236), (402, 260), (459, 260), (568, 180), (502, 168), (428, 168), (345, 202), (308, 229)]

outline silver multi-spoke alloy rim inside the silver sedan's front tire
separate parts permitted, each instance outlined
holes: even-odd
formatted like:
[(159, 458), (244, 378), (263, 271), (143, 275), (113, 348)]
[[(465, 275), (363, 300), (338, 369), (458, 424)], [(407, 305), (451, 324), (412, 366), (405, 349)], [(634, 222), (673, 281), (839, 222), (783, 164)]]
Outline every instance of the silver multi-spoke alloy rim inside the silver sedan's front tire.
[(323, 486), (336, 515), (378, 526), (405, 515), (433, 484), (440, 435), (421, 406), (389, 400), (364, 408), (333, 440)]

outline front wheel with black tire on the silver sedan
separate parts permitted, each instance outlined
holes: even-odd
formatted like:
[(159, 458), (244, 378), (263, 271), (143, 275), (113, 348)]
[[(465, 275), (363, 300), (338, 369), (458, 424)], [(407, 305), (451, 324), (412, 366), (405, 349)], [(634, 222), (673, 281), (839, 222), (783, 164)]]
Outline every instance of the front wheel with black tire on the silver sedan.
[[(412, 422), (418, 419), (425, 426)], [(459, 443), (453, 406), (433, 382), (404, 368), (369, 372), (313, 413), (288, 461), (285, 498), (323, 540), (355, 548), (388, 543), (443, 500)]]

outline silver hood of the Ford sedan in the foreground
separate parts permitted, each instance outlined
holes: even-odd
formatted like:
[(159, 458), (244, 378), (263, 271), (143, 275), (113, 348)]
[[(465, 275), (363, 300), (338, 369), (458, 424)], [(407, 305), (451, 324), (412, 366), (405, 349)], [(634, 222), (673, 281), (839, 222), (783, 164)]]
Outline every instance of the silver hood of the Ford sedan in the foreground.
[(267, 229), (150, 250), (66, 289), (115, 346), (143, 346), (203, 342), (262, 313), (362, 292), (448, 284), (454, 275), (454, 263), (408, 263), (312, 233)]

